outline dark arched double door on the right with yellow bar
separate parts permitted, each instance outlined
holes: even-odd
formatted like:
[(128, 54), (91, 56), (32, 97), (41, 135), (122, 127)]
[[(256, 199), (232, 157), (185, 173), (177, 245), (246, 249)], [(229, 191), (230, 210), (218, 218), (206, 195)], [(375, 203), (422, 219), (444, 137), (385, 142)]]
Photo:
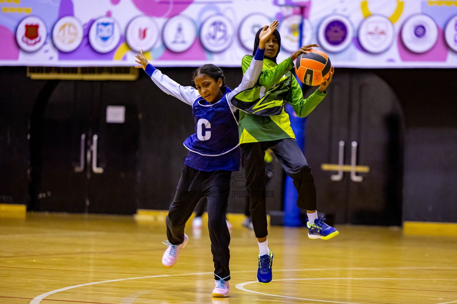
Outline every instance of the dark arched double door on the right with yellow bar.
[(404, 134), (399, 101), (372, 72), (337, 74), (307, 120), (305, 156), (318, 211), (333, 214), (337, 223), (399, 225)]

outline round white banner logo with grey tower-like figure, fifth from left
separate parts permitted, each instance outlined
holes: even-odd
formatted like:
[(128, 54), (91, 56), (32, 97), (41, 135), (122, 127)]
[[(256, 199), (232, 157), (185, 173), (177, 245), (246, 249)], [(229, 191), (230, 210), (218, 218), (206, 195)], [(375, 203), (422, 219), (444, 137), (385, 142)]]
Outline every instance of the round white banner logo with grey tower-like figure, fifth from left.
[(162, 30), (162, 40), (172, 52), (187, 51), (197, 38), (194, 22), (185, 15), (177, 15), (165, 22)]

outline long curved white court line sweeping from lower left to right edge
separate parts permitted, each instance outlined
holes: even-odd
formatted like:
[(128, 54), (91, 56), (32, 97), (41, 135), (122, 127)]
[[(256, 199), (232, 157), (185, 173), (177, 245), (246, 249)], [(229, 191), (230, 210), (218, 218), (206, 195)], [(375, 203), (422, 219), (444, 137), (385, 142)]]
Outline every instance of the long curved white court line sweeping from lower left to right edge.
[[(306, 268), (306, 269), (278, 269), (278, 270), (275, 270), (276, 271), (284, 271), (284, 272), (287, 272), (287, 271), (327, 271), (327, 270), (373, 270), (373, 269), (378, 269), (378, 270), (382, 270), (382, 269), (457, 269), (457, 267), (353, 267), (353, 268)], [(255, 270), (241, 270), (241, 271), (232, 271), (231, 273), (246, 273), (246, 272), (255, 272)], [(182, 276), (182, 275), (200, 275), (200, 274), (213, 274), (212, 272), (207, 272), (207, 273), (178, 273), (178, 274), (162, 274), (162, 275), (152, 275), (152, 276), (146, 276), (146, 277), (135, 277), (135, 278), (119, 278), (119, 279), (115, 279), (115, 280), (106, 280), (106, 281), (100, 281), (100, 282), (92, 282), (92, 283), (85, 283), (85, 284), (80, 284), (80, 285), (74, 285), (74, 286), (69, 286), (69, 287), (64, 287), (64, 288), (61, 288), (61, 289), (56, 289), (56, 290), (53, 290), (53, 291), (48, 291), (47, 293), (44, 293), (44, 294), (40, 294), (39, 296), (35, 297), (32, 299), (32, 301), (30, 301), (30, 304), (39, 304), (41, 302), (41, 300), (43, 300), (44, 298), (46, 298), (47, 296), (51, 295), (51, 294), (57, 294), (58, 292), (61, 292), (61, 291), (65, 291), (65, 290), (69, 290), (69, 289), (73, 289), (73, 288), (76, 288), (76, 287), (82, 287), (82, 286), (88, 286), (88, 285), (94, 285), (94, 284), (101, 284), (101, 283), (110, 283), (110, 282), (117, 282), (117, 281), (126, 281), (126, 280), (135, 280), (135, 279), (142, 279), (142, 278), (160, 278), (160, 277), (173, 277), (173, 276)], [(284, 280), (284, 279), (283, 279)], [(257, 282), (257, 281), (253, 281), (253, 282)], [(251, 282), (252, 283), (252, 282)], [(238, 286), (239, 284), (237, 284), (236, 286)], [(235, 286), (235, 287), (236, 287)], [(238, 288), (238, 287), (236, 287)], [(255, 293), (254, 291), (250, 291), (250, 290), (247, 290), (246, 291), (248, 292), (253, 292)], [(272, 295), (272, 296), (276, 296), (276, 297), (281, 297), (281, 296), (278, 296), (278, 295), (274, 295), (274, 294), (267, 294), (267, 295)], [(287, 298), (287, 297), (286, 297)], [(299, 298), (296, 298), (296, 299), (299, 299)], [(325, 301), (324, 301), (325, 302)], [(333, 303), (344, 303), (344, 302), (333, 302)], [(451, 302), (452, 303), (452, 302)], [(457, 303), (454, 302), (454, 303)]]

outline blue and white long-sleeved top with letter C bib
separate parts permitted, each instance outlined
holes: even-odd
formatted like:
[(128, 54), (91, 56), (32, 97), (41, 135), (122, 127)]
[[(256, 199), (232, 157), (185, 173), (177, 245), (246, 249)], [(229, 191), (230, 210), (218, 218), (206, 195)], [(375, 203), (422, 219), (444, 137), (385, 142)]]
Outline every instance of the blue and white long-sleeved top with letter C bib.
[(189, 150), (186, 165), (201, 171), (239, 170), (238, 122), (234, 116), (236, 108), (230, 101), (239, 92), (254, 87), (262, 72), (264, 52), (257, 49), (239, 86), (233, 91), (225, 87), (223, 97), (213, 103), (207, 103), (196, 88), (181, 86), (148, 64), (145, 72), (162, 91), (192, 106), (195, 134), (184, 142)]

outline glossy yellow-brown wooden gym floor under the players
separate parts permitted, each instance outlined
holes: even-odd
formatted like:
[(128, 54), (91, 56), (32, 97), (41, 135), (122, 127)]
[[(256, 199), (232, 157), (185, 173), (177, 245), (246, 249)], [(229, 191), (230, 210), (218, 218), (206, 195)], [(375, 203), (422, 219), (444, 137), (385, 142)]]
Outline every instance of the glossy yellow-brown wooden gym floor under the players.
[(0, 303), (266, 304), (457, 303), (457, 238), (405, 236), (397, 227), (338, 226), (334, 239), (271, 227), (273, 282), (255, 281), (254, 233), (232, 229), (230, 297), (211, 297), (207, 228), (172, 268), (161, 264), (163, 222), (132, 216), (30, 213), (0, 218)]

